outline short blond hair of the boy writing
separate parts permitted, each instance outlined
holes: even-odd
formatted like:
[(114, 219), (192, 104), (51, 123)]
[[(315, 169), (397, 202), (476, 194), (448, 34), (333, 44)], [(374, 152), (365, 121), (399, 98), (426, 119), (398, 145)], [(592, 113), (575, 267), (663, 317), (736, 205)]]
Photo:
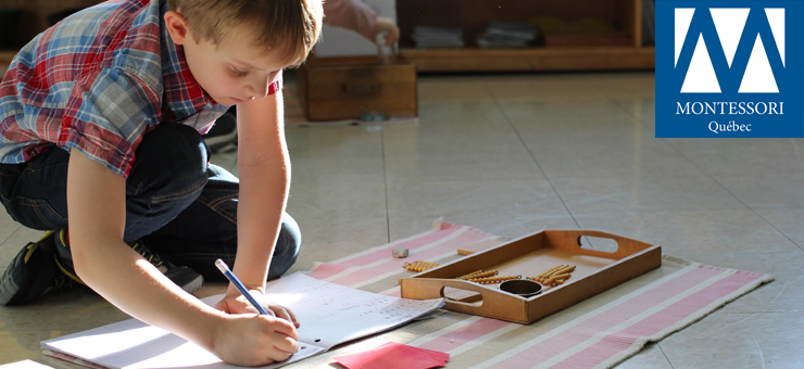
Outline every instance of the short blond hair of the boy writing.
[(282, 50), (286, 64), (299, 65), (318, 40), (321, 0), (167, 0), (187, 20), (199, 41), (221, 44), (227, 37), (253, 35), (255, 47)]

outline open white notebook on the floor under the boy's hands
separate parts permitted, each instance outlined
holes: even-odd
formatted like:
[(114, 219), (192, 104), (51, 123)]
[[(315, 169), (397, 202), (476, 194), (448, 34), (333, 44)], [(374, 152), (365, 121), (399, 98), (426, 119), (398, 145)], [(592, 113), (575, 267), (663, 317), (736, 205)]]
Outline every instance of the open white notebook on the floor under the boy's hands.
[[(299, 352), (278, 368), (332, 346), (404, 325), (443, 306), (443, 300), (407, 300), (329, 283), (297, 272), (268, 283), (272, 301), (299, 318)], [(202, 301), (217, 303), (223, 295)], [(42, 341), (47, 355), (105, 368), (239, 368), (162, 329), (137, 319)]]

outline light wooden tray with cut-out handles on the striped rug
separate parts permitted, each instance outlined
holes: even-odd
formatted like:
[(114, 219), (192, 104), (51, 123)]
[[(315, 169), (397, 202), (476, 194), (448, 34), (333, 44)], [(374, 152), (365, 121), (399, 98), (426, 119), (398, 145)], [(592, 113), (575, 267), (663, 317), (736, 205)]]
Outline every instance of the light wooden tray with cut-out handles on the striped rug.
[[(616, 242), (614, 252), (581, 247)], [(556, 265), (575, 265), (563, 285), (532, 297), (500, 291), (499, 284), (454, 279), (478, 269), (497, 269), (500, 276), (536, 277)], [(629, 279), (658, 268), (662, 247), (594, 230), (544, 230), (488, 249), (401, 280), (402, 297), (444, 297), (444, 308), (529, 325)]]

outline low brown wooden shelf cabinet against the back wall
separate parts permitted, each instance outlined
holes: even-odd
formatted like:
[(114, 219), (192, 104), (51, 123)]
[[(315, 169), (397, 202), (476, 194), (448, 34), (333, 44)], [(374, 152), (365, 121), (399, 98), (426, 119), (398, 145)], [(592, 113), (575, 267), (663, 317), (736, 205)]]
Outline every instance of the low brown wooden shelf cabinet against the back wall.
[[(595, 20), (611, 29), (545, 34), (550, 38), (545, 46), (529, 49), (474, 44), (489, 22), (539, 17), (568, 24)], [(400, 52), (419, 72), (649, 69), (655, 63), (654, 47), (642, 46), (642, 0), (411, 0), (397, 2), (397, 18)], [(415, 26), (461, 27), (467, 47), (416, 49), (410, 36)]]

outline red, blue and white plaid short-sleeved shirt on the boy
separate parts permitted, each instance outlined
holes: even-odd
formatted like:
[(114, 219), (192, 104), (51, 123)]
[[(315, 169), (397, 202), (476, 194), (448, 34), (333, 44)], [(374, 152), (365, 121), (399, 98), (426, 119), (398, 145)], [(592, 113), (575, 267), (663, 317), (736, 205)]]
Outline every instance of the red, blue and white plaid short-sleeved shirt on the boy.
[[(112, 0), (38, 35), (0, 82), (0, 163), (53, 144), (128, 178), (142, 135), (161, 122), (205, 133), (228, 106), (201, 89), (159, 0)], [(281, 88), (278, 77), (269, 88)]]

